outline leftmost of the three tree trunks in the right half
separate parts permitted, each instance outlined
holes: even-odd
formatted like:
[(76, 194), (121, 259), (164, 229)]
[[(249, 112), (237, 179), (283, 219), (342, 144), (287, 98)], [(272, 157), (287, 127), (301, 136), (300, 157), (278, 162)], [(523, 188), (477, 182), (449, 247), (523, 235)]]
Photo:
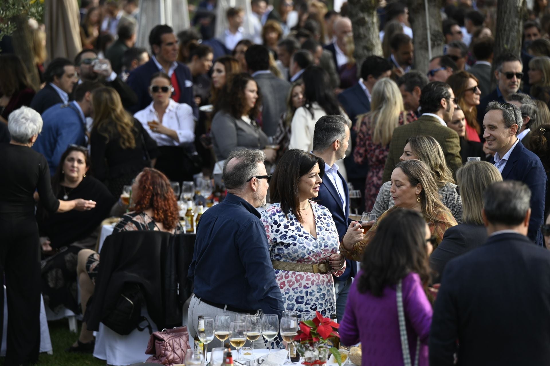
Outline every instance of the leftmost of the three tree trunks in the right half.
[(357, 73), (363, 61), (371, 55), (382, 56), (382, 43), (378, 36), (378, 0), (348, 0), (349, 18), (353, 24), (354, 57)]

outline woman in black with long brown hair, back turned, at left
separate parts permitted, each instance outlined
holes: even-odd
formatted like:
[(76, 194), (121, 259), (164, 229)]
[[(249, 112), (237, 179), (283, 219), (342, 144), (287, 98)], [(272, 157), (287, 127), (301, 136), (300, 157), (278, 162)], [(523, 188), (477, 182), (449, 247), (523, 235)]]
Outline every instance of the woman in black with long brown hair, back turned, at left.
[(124, 185), (130, 185), (144, 167), (155, 165), (157, 144), (141, 123), (124, 110), (115, 89), (96, 89), (92, 101), (92, 171), (118, 197)]

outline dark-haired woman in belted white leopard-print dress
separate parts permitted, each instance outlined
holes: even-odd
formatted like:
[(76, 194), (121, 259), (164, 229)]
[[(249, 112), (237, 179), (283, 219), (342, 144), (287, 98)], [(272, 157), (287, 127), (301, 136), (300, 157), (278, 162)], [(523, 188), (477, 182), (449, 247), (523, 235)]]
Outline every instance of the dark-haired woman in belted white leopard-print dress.
[[(284, 308), (298, 316), (335, 314), (332, 275), (345, 271), (331, 212), (312, 200), (319, 194), (324, 166), (323, 159), (311, 153), (287, 151), (273, 173), (272, 204), (261, 217)], [(362, 233), (351, 230), (348, 236), (358, 240)]]

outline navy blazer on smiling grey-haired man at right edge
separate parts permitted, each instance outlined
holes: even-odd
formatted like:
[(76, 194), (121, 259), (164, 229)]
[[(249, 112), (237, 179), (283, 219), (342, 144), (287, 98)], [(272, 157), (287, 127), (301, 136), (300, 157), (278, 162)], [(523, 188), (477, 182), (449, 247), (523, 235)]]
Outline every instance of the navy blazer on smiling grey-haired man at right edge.
[[(494, 164), (494, 159), (491, 159), (491, 163)], [(544, 222), (544, 202), (548, 178), (541, 159), (535, 153), (527, 150), (521, 141), (518, 141), (510, 154), (510, 159), (504, 166), (502, 179), (524, 182), (531, 189), (531, 218), (527, 236), (535, 244), (544, 246), (541, 225)]]

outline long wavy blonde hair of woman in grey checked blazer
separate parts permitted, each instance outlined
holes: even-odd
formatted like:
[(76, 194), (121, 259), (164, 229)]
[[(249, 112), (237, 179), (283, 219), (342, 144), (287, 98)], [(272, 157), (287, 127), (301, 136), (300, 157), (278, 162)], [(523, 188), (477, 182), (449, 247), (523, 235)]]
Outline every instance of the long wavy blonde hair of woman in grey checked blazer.
[(454, 183), (453, 173), (447, 166), (443, 149), (436, 139), (431, 136), (412, 136), (406, 143), (410, 145), (412, 153), (430, 168), (437, 187), (442, 188), (448, 182)]

